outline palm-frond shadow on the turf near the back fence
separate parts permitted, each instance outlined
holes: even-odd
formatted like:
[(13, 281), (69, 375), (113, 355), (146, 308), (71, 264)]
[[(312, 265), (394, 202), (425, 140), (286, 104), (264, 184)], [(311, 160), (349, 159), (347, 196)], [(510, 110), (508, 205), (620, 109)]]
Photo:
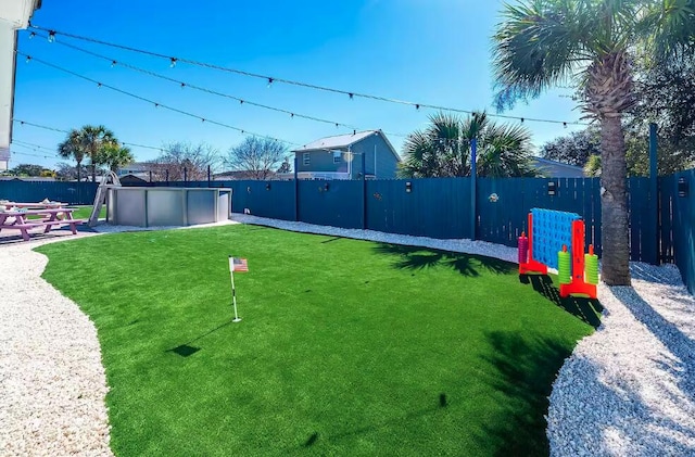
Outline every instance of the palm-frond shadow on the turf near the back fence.
[(446, 266), (469, 277), (480, 276), (481, 269), (497, 275), (505, 275), (514, 269), (513, 264), (496, 258), (429, 247), (380, 243), (375, 250), (379, 254), (397, 257), (393, 266), (399, 269), (421, 270), (434, 266)]

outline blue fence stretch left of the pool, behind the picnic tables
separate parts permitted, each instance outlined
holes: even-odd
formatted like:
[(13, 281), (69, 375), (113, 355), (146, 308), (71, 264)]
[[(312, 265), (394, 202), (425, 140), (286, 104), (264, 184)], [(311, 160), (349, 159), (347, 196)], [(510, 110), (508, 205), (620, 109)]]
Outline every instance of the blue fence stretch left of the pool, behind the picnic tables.
[(71, 205), (91, 205), (98, 186), (72, 181), (0, 181), (0, 199), (26, 203), (49, 199)]

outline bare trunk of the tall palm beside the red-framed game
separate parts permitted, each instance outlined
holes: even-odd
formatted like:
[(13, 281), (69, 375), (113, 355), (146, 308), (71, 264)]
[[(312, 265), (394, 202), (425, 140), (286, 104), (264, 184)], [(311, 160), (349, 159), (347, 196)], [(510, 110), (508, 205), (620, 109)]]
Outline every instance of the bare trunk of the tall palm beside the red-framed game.
[(620, 120), (604, 117), (601, 123), (601, 276), (608, 285), (630, 285), (626, 140)]

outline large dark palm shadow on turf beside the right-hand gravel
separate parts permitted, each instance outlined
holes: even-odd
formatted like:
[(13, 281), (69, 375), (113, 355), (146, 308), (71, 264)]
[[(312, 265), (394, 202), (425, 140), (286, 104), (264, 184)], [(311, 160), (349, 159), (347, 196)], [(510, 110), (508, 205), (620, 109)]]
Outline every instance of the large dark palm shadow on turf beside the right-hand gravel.
[[(517, 332), (490, 332), (493, 351), (483, 356), (490, 364), (489, 381), (500, 392), (504, 412), (483, 426), (478, 439), (493, 441), (497, 456), (546, 456), (545, 434), (553, 381), (571, 348), (543, 337)], [(491, 354), (491, 355), (490, 355)]]

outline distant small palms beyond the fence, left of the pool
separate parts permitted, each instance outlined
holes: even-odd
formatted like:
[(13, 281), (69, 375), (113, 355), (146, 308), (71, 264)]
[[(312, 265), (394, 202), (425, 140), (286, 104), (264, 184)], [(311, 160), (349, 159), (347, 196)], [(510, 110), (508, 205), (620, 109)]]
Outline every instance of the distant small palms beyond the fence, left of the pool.
[(91, 166), (91, 180), (97, 181), (97, 165), (100, 165), (101, 150), (104, 145), (117, 143), (113, 131), (103, 125), (86, 125), (81, 129), (73, 129), (67, 134), (65, 141), (59, 144), (58, 153), (61, 157), (73, 157), (77, 162), (77, 179), (80, 179), (79, 165), (89, 157)]

